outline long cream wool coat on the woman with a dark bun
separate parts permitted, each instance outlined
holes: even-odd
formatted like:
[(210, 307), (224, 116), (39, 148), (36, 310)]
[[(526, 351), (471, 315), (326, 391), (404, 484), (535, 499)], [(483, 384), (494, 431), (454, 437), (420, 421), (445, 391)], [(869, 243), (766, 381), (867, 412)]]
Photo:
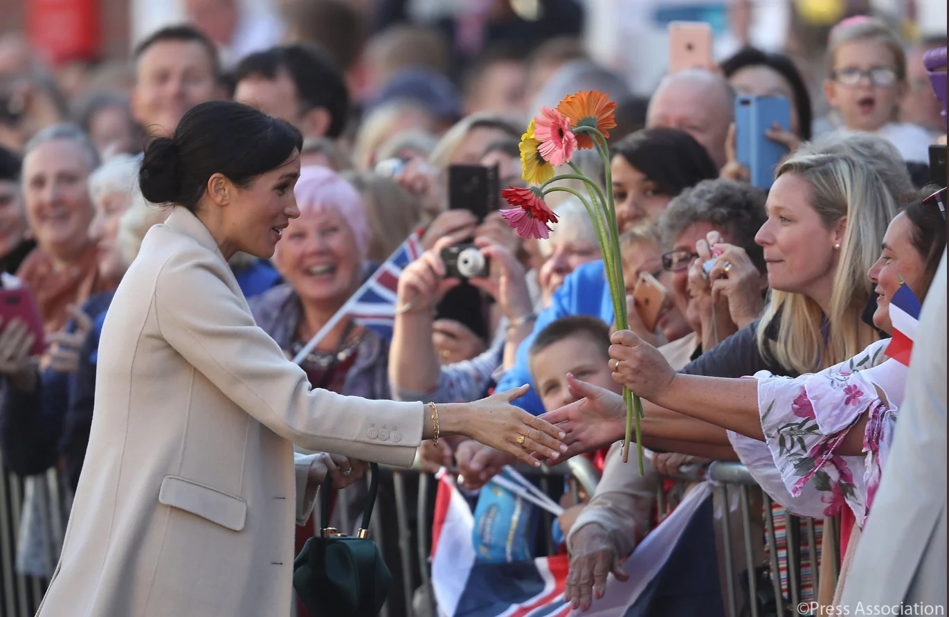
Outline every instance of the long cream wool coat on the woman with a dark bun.
[[(40, 617), (286, 617), (314, 491), (292, 445), (408, 466), (420, 402), (310, 390), (183, 208), (109, 308), (96, 407)], [(308, 495), (307, 495), (308, 493)]]

